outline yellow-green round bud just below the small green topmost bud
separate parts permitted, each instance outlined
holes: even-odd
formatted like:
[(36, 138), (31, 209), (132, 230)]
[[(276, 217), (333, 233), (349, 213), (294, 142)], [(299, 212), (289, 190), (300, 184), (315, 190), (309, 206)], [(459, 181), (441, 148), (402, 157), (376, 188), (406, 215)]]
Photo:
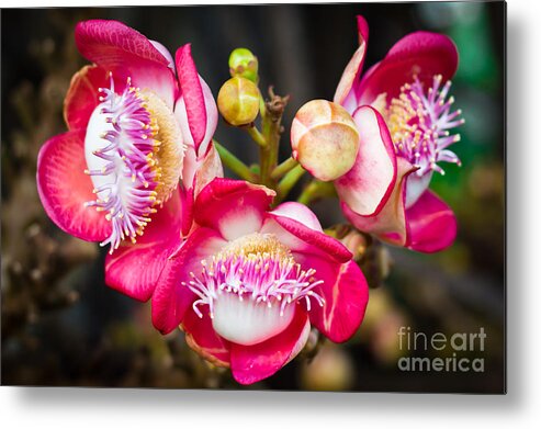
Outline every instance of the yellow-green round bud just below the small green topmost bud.
[(218, 92), (218, 109), (232, 125), (252, 123), (259, 113), (259, 89), (251, 80), (236, 76), (227, 80)]

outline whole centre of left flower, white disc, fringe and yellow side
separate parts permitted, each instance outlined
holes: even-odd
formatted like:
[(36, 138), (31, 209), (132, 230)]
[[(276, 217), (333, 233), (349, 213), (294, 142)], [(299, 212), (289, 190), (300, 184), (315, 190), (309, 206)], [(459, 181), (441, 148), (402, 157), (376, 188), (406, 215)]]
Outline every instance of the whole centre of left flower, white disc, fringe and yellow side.
[(97, 194), (87, 206), (106, 212), (112, 232), (102, 246), (111, 252), (122, 240), (135, 242), (178, 184), (183, 144), (172, 112), (150, 91), (140, 91), (127, 80), (117, 94), (100, 88), (101, 103), (92, 112), (84, 138), (86, 170)]

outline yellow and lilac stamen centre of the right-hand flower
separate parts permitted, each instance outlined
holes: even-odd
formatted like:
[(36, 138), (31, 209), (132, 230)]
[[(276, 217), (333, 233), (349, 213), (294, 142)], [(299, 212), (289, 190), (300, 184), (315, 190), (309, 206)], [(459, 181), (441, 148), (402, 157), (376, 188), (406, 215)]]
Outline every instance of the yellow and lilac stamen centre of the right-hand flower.
[(438, 162), (461, 165), (459, 157), (448, 149), (460, 140), (450, 131), (464, 123), (461, 110), (451, 111), (454, 98), (449, 97), (451, 81), (441, 87), (441, 75), (435, 76), (428, 89), (415, 78), (401, 88), (384, 110), (396, 155), (418, 167), (408, 178), (406, 206), (413, 205), (428, 188), (432, 172), (444, 174)]

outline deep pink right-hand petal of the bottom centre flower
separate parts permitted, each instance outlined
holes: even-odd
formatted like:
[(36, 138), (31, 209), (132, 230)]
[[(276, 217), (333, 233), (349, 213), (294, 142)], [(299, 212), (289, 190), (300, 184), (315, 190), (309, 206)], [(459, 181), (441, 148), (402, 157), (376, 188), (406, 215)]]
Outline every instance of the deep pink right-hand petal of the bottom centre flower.
[(314, 292), (325, 298), (325, 304), (322, 307), (312, 301), (311, 323), (331, 341), (347, 341), (361, 325), (369, 301), (369, 287), (361, 269), (354, 261), (339, 264), (297, 253), (294, 258), (303, 270), (315, 269), (314, 278), (324, 281)]

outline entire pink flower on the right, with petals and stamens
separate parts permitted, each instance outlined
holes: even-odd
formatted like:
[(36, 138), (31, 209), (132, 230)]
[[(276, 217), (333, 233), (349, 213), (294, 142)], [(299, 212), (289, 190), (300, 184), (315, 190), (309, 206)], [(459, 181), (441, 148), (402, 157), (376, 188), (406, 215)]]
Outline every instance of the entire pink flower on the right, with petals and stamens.
[(335, 181), (346, 217), (360, 230), (424, 252), (450, 246), (452, 210), (428, 190), (438, 162), (460, 160), (449, 131), (463, 123), (448, 97), (458, 67), (453, 42), (416, 32), (398, 41), (362, 77), (368, 24), (358, 16), (360, 46), (346, 67), (335, 103), (351, 114), (360, 146), (353, 168)]

